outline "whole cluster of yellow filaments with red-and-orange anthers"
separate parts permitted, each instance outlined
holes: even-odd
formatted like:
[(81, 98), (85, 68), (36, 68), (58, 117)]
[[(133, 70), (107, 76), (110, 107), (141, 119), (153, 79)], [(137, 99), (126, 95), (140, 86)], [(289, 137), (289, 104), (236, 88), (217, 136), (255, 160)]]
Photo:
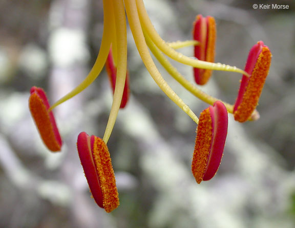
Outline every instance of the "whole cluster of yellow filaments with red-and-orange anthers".
[[(106, 130), (102, 139), (81, 132), (78, 135), (77, 148), (81, 165), (94, 200), (99, 207), (104, 208), (107, 212), (111, 212), (118, 207), (119, 198), (107, 143), (114, 128), (118, 111), (126, 105), (129, 98), (126, 15), (136, 47), (147, 71), (164, 94), (198, 124), (192, 163), (192, 172), (197, 183), (201, 183), (202, 180), (211, 179), (218, 170), (227, 133), (227, 112), (233, 113), (234, 106), (202, 92), (194, 84), (187, 81), (170, 61), (168, 61), (167, 57), (179, 63), (193, 66), (198, 84), (205, 84), (212, 70), (243, 74), (241, 87), (245, 87), (245, 89), (240, 89), (240, 93), (244, 94), (244, 97), (241, 103), (236, 102), (238, 108), (237, 110), (235, 109), (235, 118), (240, 115), (239, 113), (243, 113), (244, 109), (247, 109), (245, 111), (247, 112), (247, 120), (249, 119), (249, 111), (248, 106), (244, 105), (245, 102), (251, 101), (249, 115), (252, 116), (252, 119), (258, 116), (258, 112), (255, 111), (256, 105), (252, 105), (256, 100), (252, 102), (253, 99), (249, 99), (249, 97), (251, 94), (258, 94), (258, 90), (259, 95), (261, 93), (261, 83), (262, 80), (264, 83), (265, 73), (268, 72), (269, 68), (266, 67), (267, 64), (265, 63), (270, 63), (270, 60), (268, 61), (270, 52), (268, 53), (268, 49), (260, 41), (258, 44), (259, 48), (255, 48), (257, 51), (250, 52), (250, 66), (246, 66), (245, 71), (243, 71), (236, 66), (213, 62), (216, 34), (215, 20), (213, 17), (197, 16), (197, 21), (194, 24), (194, 40), (165, 42), (154, 29), (142, 0), (103, 0), (103, 12), (101, 45), (97, 59), (89, 75), (70, 93), (60, 98), (51, 107), (44, 91), (41, 88), (33, 87), (31, 89), (29, 104), (32, 116), (44, 143), (50, 150), (60, 150), (61, 139), (52, 110), (86, 89), (97, 78), (104, 64), (106, 64), (106, 70), (113, 87), (113, 103)], [(176, 51), (178, 48), (189, 45), (195, 46), (195, 57), (193, 58)], [(160, 64), (162, 64), (166, 72), (177, 80), (179, 84), (200, 100), (213, 105), (201, 112), (200, 120), (194, 111), (184, 103), (163, 79), (150, 51)], [(248, 80), (247, 77), (249, 77), (249, 74), (251, 74), (251, 77)], [(260, 79), (261, 75), (264, 79)], [(260, 83), (258, 88), (255, 87), (257, 82)], [(240, 93), (239, 98), (241, 97)]]

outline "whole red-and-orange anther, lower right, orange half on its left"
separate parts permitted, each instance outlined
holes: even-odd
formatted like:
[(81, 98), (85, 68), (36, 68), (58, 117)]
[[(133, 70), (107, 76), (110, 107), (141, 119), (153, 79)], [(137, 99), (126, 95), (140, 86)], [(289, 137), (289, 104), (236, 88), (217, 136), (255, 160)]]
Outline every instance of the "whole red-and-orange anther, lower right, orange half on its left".
[(197, 129), (192, 172), (198, 184), (211, 179), (221, 163), (227, 134), (227, 110), (220, 101), (203, 110)]

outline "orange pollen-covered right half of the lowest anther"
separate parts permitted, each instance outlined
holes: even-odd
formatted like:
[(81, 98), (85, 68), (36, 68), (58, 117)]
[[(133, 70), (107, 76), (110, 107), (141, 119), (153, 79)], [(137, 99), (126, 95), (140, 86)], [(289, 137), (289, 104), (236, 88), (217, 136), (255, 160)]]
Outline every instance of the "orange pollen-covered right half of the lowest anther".
[(93, 156), (102, 192), (103, 208), (109, 213), (119, 206), (119, 196), (109, 149), (98, 137), (94, 140)]

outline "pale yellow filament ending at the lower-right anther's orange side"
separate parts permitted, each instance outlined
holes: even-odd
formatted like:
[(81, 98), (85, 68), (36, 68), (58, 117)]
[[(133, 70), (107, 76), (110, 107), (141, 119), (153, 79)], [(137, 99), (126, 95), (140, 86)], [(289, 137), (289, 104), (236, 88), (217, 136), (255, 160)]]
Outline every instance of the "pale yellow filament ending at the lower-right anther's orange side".
[(166, 83), (158, 71), (143, 36), (143, 32), (140, 25), (140, 20), (137, 13), (135, 0), (125, 0), (125, 9), (129, 20), (129, 25), (134, 37), (135, 44), (141, 59), (150, 75), (153, 77), (157, 85), (163, 90), (163, 92), (174, 103), (176, 103), (189, 117), (191, 117), (196, 123), (199, 122), (195, 113), (177, 96), (173, 89)]

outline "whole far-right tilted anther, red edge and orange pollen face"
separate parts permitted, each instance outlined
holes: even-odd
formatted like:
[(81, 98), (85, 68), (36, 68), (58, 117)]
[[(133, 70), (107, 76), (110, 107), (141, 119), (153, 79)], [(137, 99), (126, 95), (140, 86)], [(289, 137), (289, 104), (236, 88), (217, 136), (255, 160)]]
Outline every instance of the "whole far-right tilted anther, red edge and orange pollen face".
[(269, 48), (264, 45), (263, 41), (255, 44), (248, 55), (245, 66), (245, 72), (250, 77), (243, 75), (239, 94), (234, 106), (234, 117), (236, 121), (247, 121), (256, 106), (268, 75), (271, 63), (271, 52)]

